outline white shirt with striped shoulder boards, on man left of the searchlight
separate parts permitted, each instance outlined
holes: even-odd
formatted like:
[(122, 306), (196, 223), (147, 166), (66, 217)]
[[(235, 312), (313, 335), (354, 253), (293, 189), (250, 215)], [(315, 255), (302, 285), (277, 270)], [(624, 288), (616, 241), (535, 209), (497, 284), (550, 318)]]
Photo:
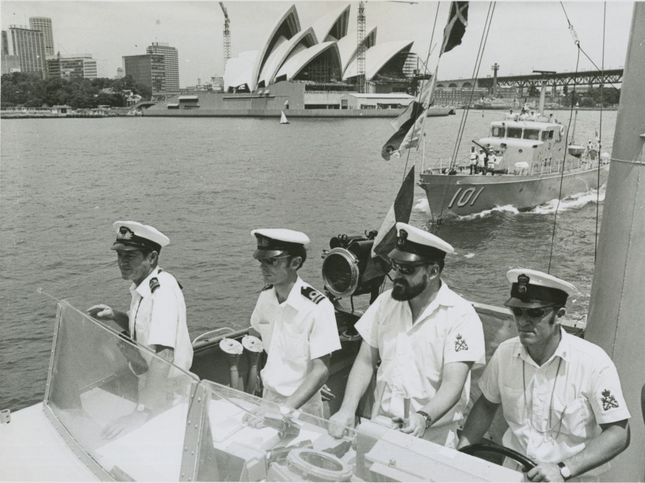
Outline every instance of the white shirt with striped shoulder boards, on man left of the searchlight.
[(340, 349), (332, 303), (298, 277), (287, 300), (278, 302), (273, 286), (257, 299), (251, 325), (268, 354), (262, 382), (283, 396), (291, 396), (312, 370), (312, 360)]

